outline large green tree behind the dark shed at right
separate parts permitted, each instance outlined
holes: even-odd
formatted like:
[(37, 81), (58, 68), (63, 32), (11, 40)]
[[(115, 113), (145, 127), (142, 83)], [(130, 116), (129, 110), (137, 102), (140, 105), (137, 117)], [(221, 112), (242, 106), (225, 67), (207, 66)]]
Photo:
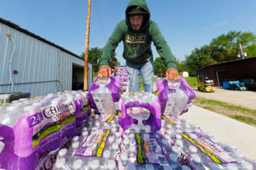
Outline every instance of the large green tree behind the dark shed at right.
[(209, 45), (195, 48), (189, 56), (185, 56), (183, 69), (186, 67), (190, 75), (209, 64), (222, 63), (237, 59), (240, 46), (247, 52), (247, 57), (256, 55), (256, 36), (253, 32), (230, 31), (213, 39)]

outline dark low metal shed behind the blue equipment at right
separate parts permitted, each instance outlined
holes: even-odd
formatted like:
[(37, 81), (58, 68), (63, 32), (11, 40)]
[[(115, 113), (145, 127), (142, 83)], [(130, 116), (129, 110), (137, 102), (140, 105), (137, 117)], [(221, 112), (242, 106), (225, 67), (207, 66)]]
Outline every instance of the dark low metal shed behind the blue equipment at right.
[(196, 70), (196, 75), (209, 75), (216, 87), (223, 87), (223, 80), (256, 81), (256, 56), (211, 64)]

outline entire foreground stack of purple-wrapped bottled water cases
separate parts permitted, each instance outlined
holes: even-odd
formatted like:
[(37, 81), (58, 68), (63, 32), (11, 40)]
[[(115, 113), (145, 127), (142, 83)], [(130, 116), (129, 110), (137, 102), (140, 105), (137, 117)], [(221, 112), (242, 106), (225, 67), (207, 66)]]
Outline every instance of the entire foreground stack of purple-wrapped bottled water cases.
[(158, 82), (162, 98), (124, 93), (121, 115), (118, 83), (96, 79), (88, 93), (65, 91), (0, 107), (0, 168), (256, 169), (235, 145), (222, 145), (181, 118), (193, 98), (183, 80)]

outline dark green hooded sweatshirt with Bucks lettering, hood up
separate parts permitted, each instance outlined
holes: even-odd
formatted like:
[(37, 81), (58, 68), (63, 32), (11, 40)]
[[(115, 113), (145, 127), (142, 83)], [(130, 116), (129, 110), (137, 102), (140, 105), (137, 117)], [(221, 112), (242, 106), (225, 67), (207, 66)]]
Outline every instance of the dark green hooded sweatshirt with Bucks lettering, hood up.
[[(144, 8), (144, 22), (139, 30), (132, 29), (127, 12), (133, 6), (140, 6)], [(164, 40), (157, 24), (150, 20), (150, 12), (147, 8), (145, 0), (131, 0), (126, 7), (126, 19), (119, 22), (109, 37), (106, 46), (103, 49), (100, 65), (109, 65), (109, 61), (115, 53), (116, 46), (123, 41), (123, 58), (129, 63), (143, 64), (153, 59), (151, 42), (154, 42), (157, 53), (164, 61), (164, 65), (169, 67), (176, 67), (175, 58), (171, 53), (167, 42)]]

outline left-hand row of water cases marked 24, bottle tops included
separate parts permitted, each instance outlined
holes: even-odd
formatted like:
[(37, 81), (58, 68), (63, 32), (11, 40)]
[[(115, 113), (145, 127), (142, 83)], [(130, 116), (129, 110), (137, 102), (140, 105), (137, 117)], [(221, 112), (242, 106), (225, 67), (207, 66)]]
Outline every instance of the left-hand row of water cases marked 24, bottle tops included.
[(50, 169), (91, 114), (85, 91), (17, 100), (0, 107), (0, 168)]

